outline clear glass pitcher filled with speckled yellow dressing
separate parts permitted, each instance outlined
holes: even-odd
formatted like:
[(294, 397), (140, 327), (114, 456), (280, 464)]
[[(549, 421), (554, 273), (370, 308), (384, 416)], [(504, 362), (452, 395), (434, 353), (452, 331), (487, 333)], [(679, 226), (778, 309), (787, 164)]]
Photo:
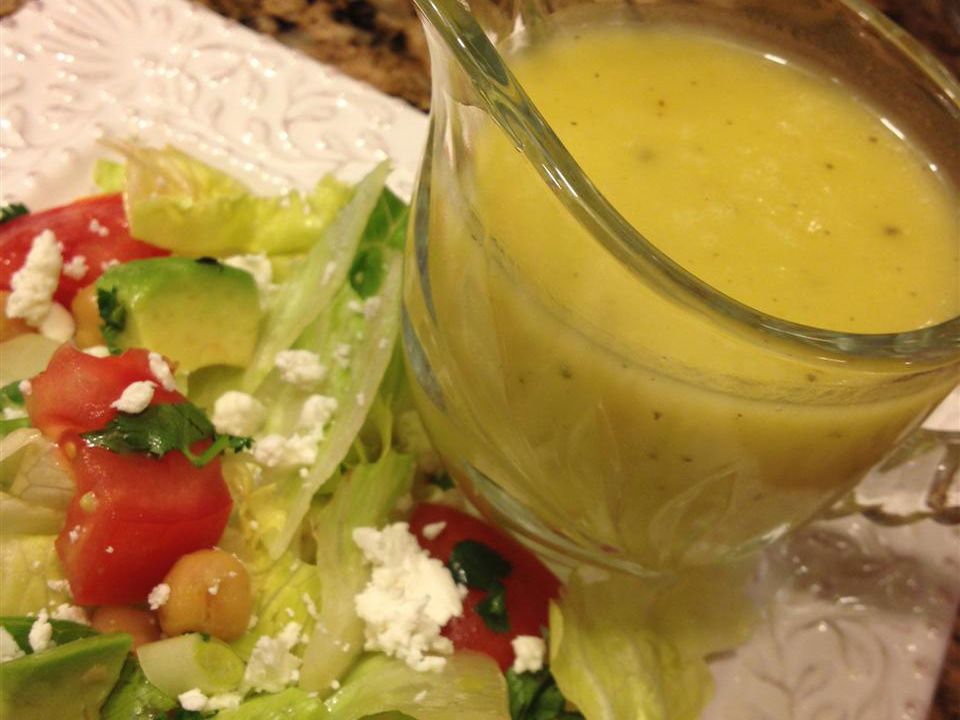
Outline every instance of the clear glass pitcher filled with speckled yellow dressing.
[[(433, 100), (413, 200), (403, 339), (431, 438), (481, 511), (541, 549), (580, 561), (638, 573), (722, 562), (837, 506), (957, 385), (960, 86), (869, 5), (415, 2), (430, 48)], [(657, 65), (658, 48), (678, 47), (678, 34), (679, 47), (687, 50)], [(731, 39), (736, 50), (728, 48)], [(637, 56), (642, 62), (596, 65), (617, 79), (576, 113), (564, 114), (564, 102), (579, 97), (586, 83), (603, 81), (590, 62), (618, 44), (637, 42), (654, 50)], [(697, 65), (704, 42), (706, 59)], [(582, 45), (570, 51), (575, 43)], [(741, 99), (739, 110), (726, 100), (741, 86), (724, 89), (711, 73), (728, 62), (728, 50), (751, 55), (729, 60), (731, 67), (762, 62), (758, 72), (769, 74), (773, 65), (798, 66), (805, 77), (812, 72), (826, 78), (816, 82), (827, 95), (856, 95), (873, 108), (880, 120), (876, 133), (861, 138), (864, 148), (836, 166), (830, 157), (815, 160), (825, 175), (841, 171), (842, 162), (866, 173), (856, 192), (848, 193), (849, 202), (870, 196), (879, 224), (888, 203), (903, 198), (887, 198), (892, 176), (871, 176), (866, 156), (857, 153), (881, 141), (893, 148), (906, 137), (932, 158), (923, 172), (925, 182), (939, 187), (934, 192), (945, 193), (940, 200), (947, 233), (940, 268), (945, 263), (947, 274), (931, 300), (939, 315), (884, 325), (887, 314), (908, 301), (876, 297), (863, 278), (872, 256), (863, 265), (827, 263), (832, 277), (816, 282), (833, 283), (834, 295), (816, 311), (829, 318), (818, 324), (815, 313), (797, 308), (826, 296), (819, 285), (797, 281), (794, 294), (802, 302), (782, 314), (772, 304), (776, 297), (758, 299), (760, 279), (783, 269), (776, 263), (740, 263), (740, 279), (744, 267), (753, 268), (754, 279), (738, 286), (733, 277), (725, 285), (722, 273), (711, 271), (703, 258), (688, 262), (685, 250), (655, 242), (658, 231), (648, 230), (647, 221), (654, 214), (676, 214), (671, 203), (683, 200), (677, 196), (704, 187), (709, 193), (711, 178), (715, 185), (734, 182), (730, 165), (742, 143), (710, 144), (724, 126), (776, 104), (772, 96), (780, 80), (752, 100)], [(528, 62), (537, 53), (539, 60)], [(523, 69), (523, 80), (512, 67)], [(652, 67), (656, 72), (644, 72)], [(683, 72), (688, 75), (673, 78), (670, 87), (661, 82)], [(545, 75), (555, 81), (549, 89), (538, 84)], [(533, 101), (527, 80), (533, 82)], [(687, 95), (713, 93), (682, 121), (668, 117), (687, 102), (678, 83), (689, 85)], [(702, 120), (706, 130), (691, 131), (689, 147), (676, 139), (647, 142), (653, 125), (638, 130), (635, 142), (615, 143), (620, 115), (628, 114), (621, 113), (627, 96), (641, 91), (649, 91), (643, 96), (649, 122)], [(804, 108), (820, 102), (827, 107), (833, 100), (811, 99)], [(771, 117), (761, 116), (750, 133), (766, 136), (768, 128), (786, 122)], [(878, 139), (880, 132), (884, 137)], [(683, 172), (711, 162), (715, 167), (702, 177), (681, 177), (679, 192), (671, 191), (666, 176), (679, 172), (672, 165), (624, 177), (616, 163), (611, 171), (605, 160), (584, 161), (583, 138), (596, 140), (598, 134), (602, 141), (610, 138), (606, 155), (614, 160), (635, 155), (631, 167), (656, 166), (681, 151), (694, 163), (682, 165)], [(819, 152), (818, 137), (801, 133), (790, 147), (775, 138), (765, 150), (760, 146), (741, 175), (765, 166), (764, 152), (801, 159), (814, 148)], [(698, 160), (698, 153), (712, 153), (712, 160)], [(594, 167), (601, 169), (596, 175)], [(652, 201), (628, 220), (621, 200), (630, 193)], [(729, 210), (711, 203), (707, 195), (693, 203), (698, 213), (704, 210), (687, 225), (696, 247), (712, 242), (712, 218)], [(791, 212), (791, 203), (783, 207)], [(806, 228), (820, 240), (824, 230), (829, 235), (829, 228)], [(891, 240), (901, 231), (909, 235), (892, 221), (878, 227)], [(923, 237), (913, 240), (920, 245), (911, 254), (927, 252)], [(728, 249), (721, 243), (715, 251)], [(752, 260), (763, 251), (740, 252)], [(773, 277), (764, 292), (776, 294), (778, 282)], [(916, 294), (895, 288), (901, 289), (904, 298)], [(857, 299), (861, 295), (867, 299)], [(834, 310), (844, 316), (831, 315)], [(860, 312), (875, 314), (876, 323), (845, 326), (847, 315)], [(942, 439), (960, 442), (957, 434)], [(941, 477), (941, 495), (943, 483)], [(956, 513), (941, 505), (930, 514), (948, 520)]]

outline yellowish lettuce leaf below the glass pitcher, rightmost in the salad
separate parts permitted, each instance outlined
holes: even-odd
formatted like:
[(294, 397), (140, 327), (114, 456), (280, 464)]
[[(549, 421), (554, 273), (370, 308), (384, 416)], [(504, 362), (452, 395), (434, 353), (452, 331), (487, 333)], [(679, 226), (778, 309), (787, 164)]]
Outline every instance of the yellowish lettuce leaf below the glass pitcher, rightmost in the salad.
[(752, 569), (575, 573), (550, 608), (550, 668), (563, 695), (590, 720), (696, 720), (713, 691), (705, 658), (749, 636)]

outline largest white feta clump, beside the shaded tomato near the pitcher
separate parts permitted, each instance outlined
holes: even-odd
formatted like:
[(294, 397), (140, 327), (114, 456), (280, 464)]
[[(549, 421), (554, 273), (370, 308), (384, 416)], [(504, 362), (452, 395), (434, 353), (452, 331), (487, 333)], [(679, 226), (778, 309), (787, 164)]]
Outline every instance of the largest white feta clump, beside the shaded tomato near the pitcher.
[(440, 670), (453, 652), (440, 634), (450, 618), (463, 614), (466, 588), (443, 563), (431, 558), (407, 523), (383, 530), (357, 528), (353, 541), (373, 565), (370, 582), (355, 598), (366, 623), (365, 648), (382, 650), (415, 670)]

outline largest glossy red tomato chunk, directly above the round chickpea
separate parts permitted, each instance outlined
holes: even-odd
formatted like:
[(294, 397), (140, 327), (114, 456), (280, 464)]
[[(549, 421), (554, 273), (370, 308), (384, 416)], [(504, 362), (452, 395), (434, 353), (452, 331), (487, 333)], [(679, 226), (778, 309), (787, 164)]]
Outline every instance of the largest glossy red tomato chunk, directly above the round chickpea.
[(178, 558), (220, 539), (232, 502), (219, 459), (196, 468), (176, 451), (154, 460), (72, 433), (66, 443), (77, 493), (56, 547), (78, 604), (141, 602)]

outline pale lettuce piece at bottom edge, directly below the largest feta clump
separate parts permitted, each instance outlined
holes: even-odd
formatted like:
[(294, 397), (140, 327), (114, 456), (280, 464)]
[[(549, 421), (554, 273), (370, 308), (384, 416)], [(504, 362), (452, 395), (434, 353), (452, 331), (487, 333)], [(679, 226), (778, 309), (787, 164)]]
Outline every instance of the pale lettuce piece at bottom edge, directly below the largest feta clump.
[(389, 711), (417, 720), (510, 719), (500, 669), (490, 658), (475, 653), (452, 655), (438, 673), (418, 672), (386, 655), (368, 655), (325, 705), (329, 720)]

